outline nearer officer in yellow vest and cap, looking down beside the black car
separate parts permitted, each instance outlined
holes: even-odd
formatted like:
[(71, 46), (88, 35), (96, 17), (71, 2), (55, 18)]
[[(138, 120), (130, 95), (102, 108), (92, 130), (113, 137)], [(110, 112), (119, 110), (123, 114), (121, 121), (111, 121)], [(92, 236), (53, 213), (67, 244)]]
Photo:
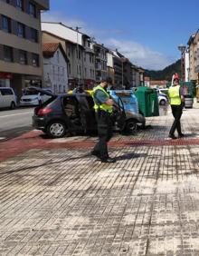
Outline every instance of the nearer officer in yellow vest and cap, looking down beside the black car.
[(99, 142), (95, 145), (92, 155), (100, 158), (101, 162), (116, 162), (115, 159), (109, 157), (108, 146), (110, 138), (112, 137), (112, 119), (113, 100), (109, 98), (106, 89), (112, 83), (111, 77), (101, 80), (101, 83), (94, 88), (93, 100), (94, 109), (96, 112), (98, 122)]

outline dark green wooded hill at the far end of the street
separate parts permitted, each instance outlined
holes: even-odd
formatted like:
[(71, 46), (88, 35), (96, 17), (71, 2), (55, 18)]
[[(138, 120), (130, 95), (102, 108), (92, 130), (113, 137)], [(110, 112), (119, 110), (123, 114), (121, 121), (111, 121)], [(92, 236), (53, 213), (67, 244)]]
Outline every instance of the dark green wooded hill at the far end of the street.
[(149, 76), (151, 80), (167, 80), (170, 81), (173, 74), (181, 73), (181, 60), (166, 66), (163, 70), (146, 70), (145, 76)]

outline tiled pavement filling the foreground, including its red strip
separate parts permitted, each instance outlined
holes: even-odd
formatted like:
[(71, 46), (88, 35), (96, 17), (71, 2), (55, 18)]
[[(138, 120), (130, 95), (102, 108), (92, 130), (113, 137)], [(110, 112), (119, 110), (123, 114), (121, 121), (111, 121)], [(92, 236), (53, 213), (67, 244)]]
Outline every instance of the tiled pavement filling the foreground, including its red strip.
[(96, 137), (0, 143), (0, 255), (198, 256), (199, 104), (185, 138), (167, 139), (172, 122), (116, 133), (111, 164), (90, 156)]

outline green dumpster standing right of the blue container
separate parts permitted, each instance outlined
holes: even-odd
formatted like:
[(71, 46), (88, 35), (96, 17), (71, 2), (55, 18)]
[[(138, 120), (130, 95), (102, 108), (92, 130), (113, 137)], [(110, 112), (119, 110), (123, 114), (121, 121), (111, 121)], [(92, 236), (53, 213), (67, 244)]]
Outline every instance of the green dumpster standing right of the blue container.
[(156, 90), (146, 86), (137, 87), (135, 91), (139, 112), (145, 117), (159, 116), (159, 104)]

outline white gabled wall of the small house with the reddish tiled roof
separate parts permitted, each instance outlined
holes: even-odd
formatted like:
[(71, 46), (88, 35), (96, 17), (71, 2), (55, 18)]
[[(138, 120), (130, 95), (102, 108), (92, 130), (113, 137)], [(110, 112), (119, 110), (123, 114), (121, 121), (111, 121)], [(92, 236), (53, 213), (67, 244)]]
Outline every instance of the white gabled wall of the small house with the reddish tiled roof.
[(68, 68), (60, 49), (52, 58), (43, 58), (43, 76), (45, 86), (51, 87), (53, 93), (61, 94), (68, 91)]

